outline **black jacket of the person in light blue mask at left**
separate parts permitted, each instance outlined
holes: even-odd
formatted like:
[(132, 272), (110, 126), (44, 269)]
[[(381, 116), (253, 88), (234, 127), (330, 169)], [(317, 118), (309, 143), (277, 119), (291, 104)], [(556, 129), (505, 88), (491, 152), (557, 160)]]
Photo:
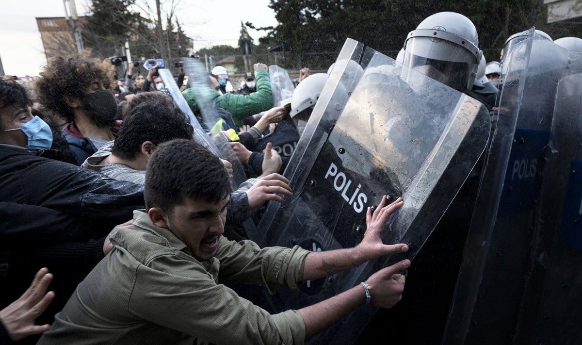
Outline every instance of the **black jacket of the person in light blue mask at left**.
[(52, 322), (103, 258), (105, 235), (144, 207), (142, 186), (44, 153), (0, 145), (0, 308), (24, 293), (38, 269), (48, 267), (56, 296), (40, 323)]

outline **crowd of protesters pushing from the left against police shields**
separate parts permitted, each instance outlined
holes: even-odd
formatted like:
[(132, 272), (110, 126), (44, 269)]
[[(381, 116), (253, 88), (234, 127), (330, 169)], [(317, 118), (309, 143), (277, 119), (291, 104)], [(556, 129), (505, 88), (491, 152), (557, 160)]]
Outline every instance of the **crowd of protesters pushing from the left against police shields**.
[[(409, 260), (324, 304), (276, 315), (222, 285), (265, 284), (274, 292), (407, 250), (382, 244), (384, 224), (402, 205), (385, 198), (368, 210), (355, 249), (316, 253), (245, 240), (245, 221), (293, 195), (283, 170), (325, 73), (301, 69), (296, 90), (311, 90), (311, 103), (301, 105), (274, 104), (261, 63), (238, 90), (221, 66), (203, 76), (224, 114), (221, 133), (244, 166), (246, 181), (233, 186), (232, 163), (193, 139), (195, 126), (211, 131), (191, 122), (202, 117), (183, 67), (172, 82), (196, 119), (169, 96), (158, 68), (142, 75), (136, 66), (130, 62), (116, 80), (107, 60), (76, 54), (50, 59), (31, 89), (0, 80), (0, 343), (37, 342), (52, 324), (40, 343), (299, 344), (359, 304), (399, 301)], [(491, 79), (501, 73), (490, 72)], [(491, 108), (495, 97), (481, 93), (484, 83), (463, 91)]]

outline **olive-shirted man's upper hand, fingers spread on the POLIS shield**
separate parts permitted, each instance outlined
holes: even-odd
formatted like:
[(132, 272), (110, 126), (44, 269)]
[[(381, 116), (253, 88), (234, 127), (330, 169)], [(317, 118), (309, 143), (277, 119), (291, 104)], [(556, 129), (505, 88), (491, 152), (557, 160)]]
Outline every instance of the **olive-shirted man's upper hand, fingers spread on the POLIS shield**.
[(382, 233), (388, 223), (388, 219), (392, 213), (402, 206), (402, 198), (394, 200), (390, 205), (386, 206), (386, 196), (382, 197), (380, 205), (374, 210), (368, 207), (368, 212), (366, 213), (366, 231), (364, 233), (363, 240), (356, 246), (356, 249), (361, 255), (361, 259), (369, 260), (372, 258), (378, 258), (382, 255), (396, 254), (408, 251), (408, 246), (406, 244), (393, 244), (388, 245), (382, 242)]

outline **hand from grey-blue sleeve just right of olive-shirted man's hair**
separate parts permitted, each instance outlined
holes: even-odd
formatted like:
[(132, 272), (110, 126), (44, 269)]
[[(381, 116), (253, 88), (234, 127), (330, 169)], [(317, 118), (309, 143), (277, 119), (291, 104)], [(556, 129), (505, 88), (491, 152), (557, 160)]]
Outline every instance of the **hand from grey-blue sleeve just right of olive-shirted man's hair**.
[(283, 202), (283, 198), (278, 194), (293, 196), (289, 180), (279, 174), (261, 177), (246, 193), (250, 210), (260, 207), (268, 200)]

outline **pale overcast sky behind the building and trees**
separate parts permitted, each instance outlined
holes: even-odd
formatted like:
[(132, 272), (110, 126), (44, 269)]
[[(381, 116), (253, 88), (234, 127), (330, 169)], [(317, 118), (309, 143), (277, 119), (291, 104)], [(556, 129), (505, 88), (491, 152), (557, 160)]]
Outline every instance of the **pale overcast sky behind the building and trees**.
[[(143, 4), (145, 0), (136, 0)], [(176, 1), (176, 0), (174, 0)], [(153, 3), (153, 1), (151, 1)], [(162, 0), (169, 3), (171, 0)], [(87, 12), (88, 0), (76, 0), (77, 12)], [(275, 26), (275, 13), (269, 0), (179, 0), (178, 19), (186, 34), (194, 38), (194, 50), (209, 45), (237, 45), (240, 21), (257, 27)], [(0, 10), (0, 58), (7, 75), (35, 76), (47, 63), (35, 17), (63, 17), (63, 0), (2, 0)], [(249, 31), (257, 40), (264, 31)]]

